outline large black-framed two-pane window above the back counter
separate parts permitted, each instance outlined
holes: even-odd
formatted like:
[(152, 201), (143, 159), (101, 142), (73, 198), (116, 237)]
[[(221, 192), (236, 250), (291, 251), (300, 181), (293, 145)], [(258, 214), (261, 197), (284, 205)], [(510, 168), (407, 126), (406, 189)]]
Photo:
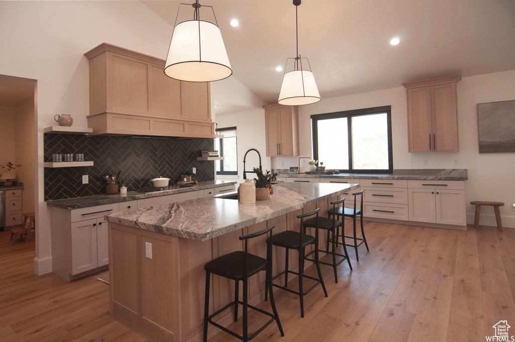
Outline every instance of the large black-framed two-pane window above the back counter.
[(392, 173), (391, 107), (311, 115), (313, 156), (328, 169)]

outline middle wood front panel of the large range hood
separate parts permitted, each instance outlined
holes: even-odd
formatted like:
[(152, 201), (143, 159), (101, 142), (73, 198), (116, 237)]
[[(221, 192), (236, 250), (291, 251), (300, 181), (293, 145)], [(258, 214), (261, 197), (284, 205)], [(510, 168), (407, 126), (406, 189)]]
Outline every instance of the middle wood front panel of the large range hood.
[(148, 110), (156, 115), (181, 117), (181, 81), (166, 76), (162, 66), (149, 67)]

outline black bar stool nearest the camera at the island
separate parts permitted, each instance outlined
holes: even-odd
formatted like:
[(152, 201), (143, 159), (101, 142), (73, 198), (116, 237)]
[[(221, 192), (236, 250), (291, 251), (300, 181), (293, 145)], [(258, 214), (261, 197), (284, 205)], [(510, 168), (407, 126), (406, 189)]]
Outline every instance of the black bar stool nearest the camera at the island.
[[(245, 240), (245, 251), (236, 251), (229, 254), (224, 255), (223, 257), (217, 258), (215, 260), (210, 261), (205, 264), (205, 303), (204, 303), (204, 342), (208, 340), (208, 322), (213, 324), (213, 326), (221, 329), (232, 336), (247, 342), (248, 340), (254, 338), (260, 332), (262, 332), (266, 327), (270, 325), (271, 322), (277, 320), (277, 326), (279, 327), (279, 331), (281, 332), (281, 336), (284, 336), (283, 328), (281, 327), (281, 322), (279, 320), (279, 316), (276, 310), (276, 303), (273, 301), (273, 291), (272, 291), (272, 229), (275, 226), (268, 227), (265, 230), (260, 232), (255, 232), (247, 235), (243, 235), (239, 237), (239, 240)], [(247, 240), (249, 238), (258, 237), (263, 234), (270, 232), (270, 236), (267, 238), (267, 248), (266, 248), (266, 259), (258, 257), (257, 255), (250, 254), (248, 252), (248, 243)], [(270, 289), (270, 304), (272, 305), (273, 315), (269, 312), (263, 311), (258, 307), (252, 306), (248, 304), (248, 278), (255, 275), (256, 273), (265, 270), (266, 271), (266, 285), (265, 288)], [(211, 273), (214, 275), (232, 279), (236, 283), (235, 287), (235, 296), (234, 301), (222, 307), (222, 309), (213, 313), (211, 316), (209, 315), (209, 286), (210, 286), (210, 278)], [(239, 289), (239, 281), (243, 281), (243, 302), (238, 300), (238, 289)], [(229, 309), (232, 305), (234, 305), (234, 321), (238, 321), (238, 304), (243, 305), (243, 336), (236, 334), (235, 332), (220, 326), (220, 324), (213, 322), (212, 318), (222, 311)], [(266, 322), (266, 324), (261, 327), (258, 331), (248, 336), (248, 325), (247, 325), (247, 310), (248, 307), (255, 311), (258, 311), (262, 314), (270, 316), (271, 319)]]

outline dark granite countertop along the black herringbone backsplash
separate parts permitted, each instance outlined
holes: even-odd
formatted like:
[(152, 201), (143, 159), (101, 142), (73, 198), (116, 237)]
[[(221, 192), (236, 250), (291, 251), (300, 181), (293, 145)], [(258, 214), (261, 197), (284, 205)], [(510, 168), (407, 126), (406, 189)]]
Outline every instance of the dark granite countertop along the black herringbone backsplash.
[(47, 201), (46, 205), (49, 207), (57, 207), (62, 209), (78, 209), (78, 208), (88, 208), (88, 207), (96, 207), (102, 206), (104, 204), (118, 203), (118, 202), (126, 202), (133, 201), (143, 198), (149, 197), (158, 197), (158, 196), (166, 196), (173, 194), (180, 194), (184, 192), (204, 190), (204, 189), (212, 189), (213, 187), (219, 186), (227, 186), (236, 184), (235, 181), (222, 181), (222, 180), (212, 180), (208, 182), (199, 182), (191, 187), (181, 187), (179, 189), (171, 189), (164, 191), (156, 191), (151, 193), (139, 193), (139, 192), (131, 192), (128, 191), (127, 195), (114, 194), (114, 195), (94, 195), (94, 196), (84, 196), (84, 197), (75, 197), (75, 198), (67, 198), (67, 199), (58, 199), (54, 201)]

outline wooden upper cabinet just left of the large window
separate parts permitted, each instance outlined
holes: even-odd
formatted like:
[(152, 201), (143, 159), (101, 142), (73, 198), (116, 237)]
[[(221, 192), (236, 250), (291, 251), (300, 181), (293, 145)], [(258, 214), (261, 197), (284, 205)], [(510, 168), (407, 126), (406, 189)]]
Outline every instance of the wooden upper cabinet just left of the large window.
[(269, 105), (265, 109), (266, 156), (299, 155), (299, 112), (296, 106)]

